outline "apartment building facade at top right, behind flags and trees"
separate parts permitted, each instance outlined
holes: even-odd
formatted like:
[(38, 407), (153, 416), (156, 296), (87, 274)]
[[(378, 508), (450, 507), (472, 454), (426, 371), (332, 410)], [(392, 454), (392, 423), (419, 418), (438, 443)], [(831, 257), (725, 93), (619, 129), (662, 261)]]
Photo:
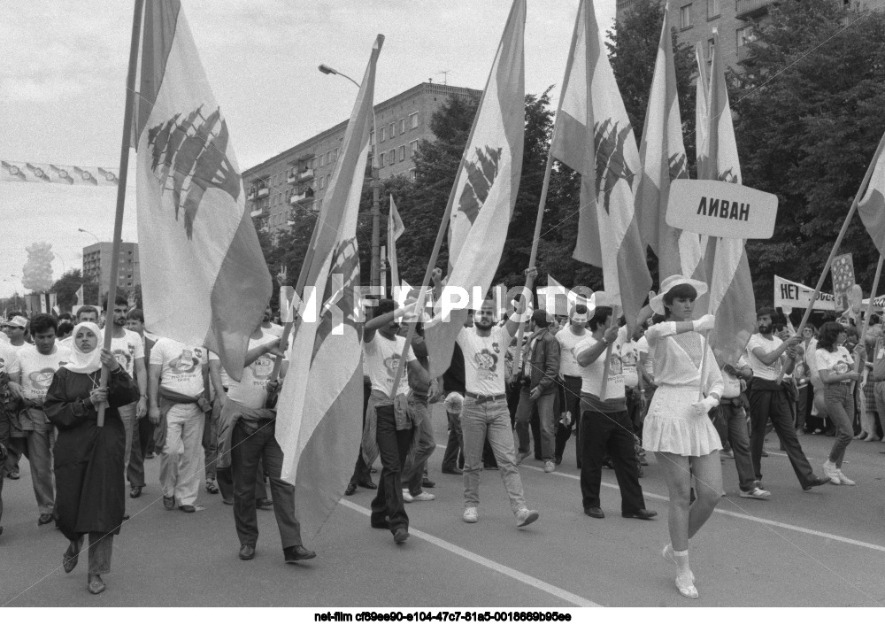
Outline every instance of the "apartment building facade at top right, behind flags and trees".
[[(663, 1), (663, 0), (662, 0)], [(623, 18), (640, 0), (618, 0), (617, 19)], [(752, 55), (747, 44), (754, 39), (753, 22), (766, 19), (778, 0), (666, 0), (670, 24), (681, 43), (692, 49), (700, 42), (707, 63), (712, 62), (713, 29), (719, 32), (720, 54), (726, 66), (741, 66)], [(869, 10), (869, 0), (834, 0), (854, 12)]]

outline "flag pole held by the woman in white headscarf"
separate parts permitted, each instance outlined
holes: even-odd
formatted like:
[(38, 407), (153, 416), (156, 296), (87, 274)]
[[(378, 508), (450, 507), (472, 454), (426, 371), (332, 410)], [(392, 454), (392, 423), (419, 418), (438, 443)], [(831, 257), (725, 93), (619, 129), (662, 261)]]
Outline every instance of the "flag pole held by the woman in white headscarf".
[[(112, 311), (113, 302), (117, 297), (117, 272), (119, 271), (119, 246), (123, 237), (123, 206), (126, 204), (126, 179), (129, 169), (129, 148), (132, 139), (132, 116), (135, 109), (135, 71), (138, 66), (138, 29), (142, 25), (144, 0), (135, 0), (135, 12), (132, 17), (132, 41), (129, 44), (129, 70), (126, 78), (126, 110), (123, 112), (123, 141), (119, 149), (119, 179), (117, 181), (117, 214), (113, 222), (113, 243), (111, 248), (111, 283), (108, 285), (108, 309)], [(113, 316), (111, 317), (113, 326)], [(112, 332), (107, 329), (105, 320), (104, 349), (111, 349)], [(108, 383), (108, 367), (102, 367), (100, 388), (106, 389)], [(104, 411), (107, 403), (98, 405), (98, 427), (104, 427)]]

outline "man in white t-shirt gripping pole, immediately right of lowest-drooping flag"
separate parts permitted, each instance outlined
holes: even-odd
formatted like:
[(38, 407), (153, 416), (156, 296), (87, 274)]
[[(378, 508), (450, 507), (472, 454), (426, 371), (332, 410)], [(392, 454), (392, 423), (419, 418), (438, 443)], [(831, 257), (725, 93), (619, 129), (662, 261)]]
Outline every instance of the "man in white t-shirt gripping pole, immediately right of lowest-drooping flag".
[[(372, 384), (364, 435), (372, 431), (373, 424), (375, 427), (374, 442), (364, 436), (363, 455), (367, 457), (369, 467), (374, 458), (371, 457), (372, 451), (366, 450), (376, 446), (381, 456), (381, 477), (372, 500), (369, 523), (376, 529), (389, 529), (396, 544), (409, 538), (409, 516), (405, 513), (402, 481), (413, 434), (406, 399), (409, 375), (423, 388), (430, 386), (430, 375), (421, 367), (410, 346), (396, 393), (391, 392), (405, 348), (405, 338), (396, 334), (399, 330), (397, 320), (413, 310), (414, 305), (396, 309), (392, 299), (382, 299), (375, 307), (373, 318), (363, 326), (363, 373), (369, 376)], [(391, 395), (395, 398), (391, 399)]]

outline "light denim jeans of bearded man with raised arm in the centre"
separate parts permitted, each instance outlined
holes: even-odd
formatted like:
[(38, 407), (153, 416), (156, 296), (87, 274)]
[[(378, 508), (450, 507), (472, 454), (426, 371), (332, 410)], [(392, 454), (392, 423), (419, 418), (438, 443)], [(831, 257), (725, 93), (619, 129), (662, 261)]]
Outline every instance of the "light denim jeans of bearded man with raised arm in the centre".
[(498, 465), (498, 473), (510, 497), (513, 513), (526, 507), (522, 478), (516, 468), (513, 449), (513, 430), (510, 411), (504, 399), (476, 403), (473, 397), (464, 398), (461, 410), (461, 432), (464, 436), (464, 505), (480, 505), (480, 470), (482, 468), (482, 444), (489, 437)]

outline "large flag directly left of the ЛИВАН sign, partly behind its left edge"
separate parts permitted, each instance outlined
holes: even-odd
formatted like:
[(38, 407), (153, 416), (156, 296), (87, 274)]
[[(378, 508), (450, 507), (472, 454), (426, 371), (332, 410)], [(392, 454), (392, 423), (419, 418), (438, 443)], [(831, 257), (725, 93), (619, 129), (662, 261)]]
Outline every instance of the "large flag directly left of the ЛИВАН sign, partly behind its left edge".
[(658, 255), (661, 281), (673, 274), (692, 275), (701, 259), (695, 233), (672, 228), (666, 223), (670, 181), (688, 178), (688, 159), (682, 142), (682, 120), (676, 93), (673, 38), (664, 10), (664, 26), (658, 43), (658, 59), (651, 81), (649, 107), (645, 114), (640, 157), (643, 176), (636, 189), (636, 212), (643, 242)]

